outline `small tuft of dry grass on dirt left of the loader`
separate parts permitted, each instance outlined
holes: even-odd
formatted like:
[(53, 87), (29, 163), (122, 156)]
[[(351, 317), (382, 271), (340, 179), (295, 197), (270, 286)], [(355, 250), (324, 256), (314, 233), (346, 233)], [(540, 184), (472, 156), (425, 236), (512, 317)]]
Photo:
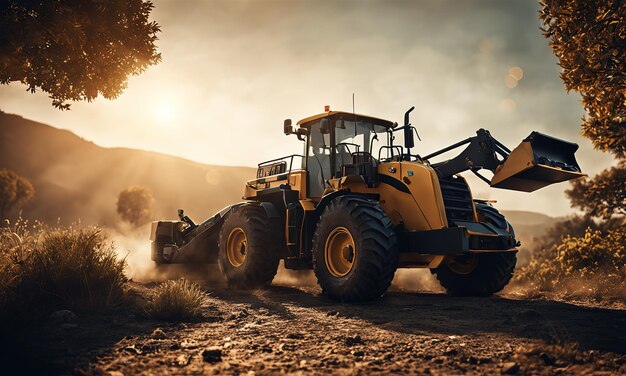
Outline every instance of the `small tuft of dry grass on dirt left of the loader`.
[(207, 295), (200, 286), (181, 278), (161, 283), (151, 294), (146, 314), (155, 319), (181, 321), (202, 318)]

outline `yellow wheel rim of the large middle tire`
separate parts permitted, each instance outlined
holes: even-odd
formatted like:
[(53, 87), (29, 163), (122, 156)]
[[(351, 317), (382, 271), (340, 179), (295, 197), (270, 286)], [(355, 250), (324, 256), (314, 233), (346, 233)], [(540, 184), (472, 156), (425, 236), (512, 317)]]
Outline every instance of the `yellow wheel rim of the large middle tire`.
[(350, 273), (356, 260), (356, 245), (345, 227), (335, 228), (326, 238), (324, 258), (328, 271), (335, 277)]

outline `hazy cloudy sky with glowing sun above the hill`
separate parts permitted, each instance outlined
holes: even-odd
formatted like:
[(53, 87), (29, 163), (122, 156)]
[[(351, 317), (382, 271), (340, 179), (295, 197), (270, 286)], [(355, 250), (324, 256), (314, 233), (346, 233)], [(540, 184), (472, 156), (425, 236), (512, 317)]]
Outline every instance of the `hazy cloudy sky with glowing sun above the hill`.
[[(614, 163), (579, 135), (580, 97), (565, 92), (537, 1), (153, 2), (163, 61), (130, 78), (119, 98), (62, 112), (12, 83), (0, 86), (0, 109), (105, 147), (255, 166), (302, 152), (282, 133), (284, 119), (325, 105), (351, 111), (354, 93), (357, 113), (399, 123), (415, 106), (418, 154), (479, 128), (509, 148), (536, 130), (578, 143), (584, 172)], [(469, 175), (474, 196), (501, 209), (572, 212), (565, 183), (523, 193)]]

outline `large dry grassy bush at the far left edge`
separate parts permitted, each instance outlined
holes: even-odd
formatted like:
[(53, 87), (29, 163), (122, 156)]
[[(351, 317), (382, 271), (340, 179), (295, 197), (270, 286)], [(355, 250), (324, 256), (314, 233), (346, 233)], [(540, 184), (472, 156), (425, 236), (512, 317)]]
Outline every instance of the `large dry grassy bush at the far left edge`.
[(27, 320), (55, 309), (114, 306), (126, 292), (124, 268), (97, 228), (0, 228), (0, 305), (7, 308), (0, 316)]

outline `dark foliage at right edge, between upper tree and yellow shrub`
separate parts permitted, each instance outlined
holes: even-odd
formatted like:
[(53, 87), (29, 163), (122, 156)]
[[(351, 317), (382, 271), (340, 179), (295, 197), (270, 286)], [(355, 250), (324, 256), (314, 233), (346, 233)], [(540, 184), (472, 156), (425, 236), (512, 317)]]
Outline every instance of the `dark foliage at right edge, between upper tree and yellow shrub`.
[(565, 191), (573, 206), (594, 217), (626, 215), (626, 160), (594, 176), (578, 179)]

